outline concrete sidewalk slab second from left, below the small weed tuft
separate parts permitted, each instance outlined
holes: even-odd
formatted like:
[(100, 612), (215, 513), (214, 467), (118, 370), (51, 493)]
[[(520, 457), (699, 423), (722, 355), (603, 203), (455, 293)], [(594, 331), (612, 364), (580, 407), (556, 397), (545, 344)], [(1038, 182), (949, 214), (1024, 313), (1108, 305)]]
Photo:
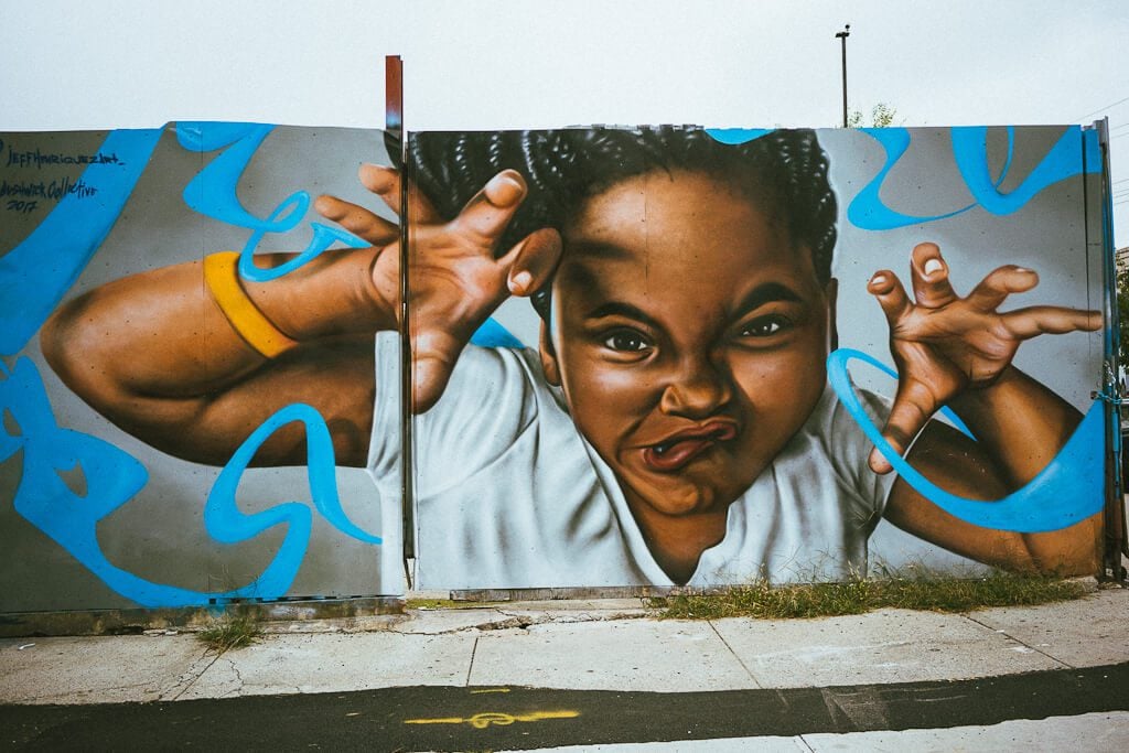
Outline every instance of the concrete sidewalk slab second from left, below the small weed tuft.
[(279, 634), (228, 651), (175, 699), (464, 685), (474, 636)]

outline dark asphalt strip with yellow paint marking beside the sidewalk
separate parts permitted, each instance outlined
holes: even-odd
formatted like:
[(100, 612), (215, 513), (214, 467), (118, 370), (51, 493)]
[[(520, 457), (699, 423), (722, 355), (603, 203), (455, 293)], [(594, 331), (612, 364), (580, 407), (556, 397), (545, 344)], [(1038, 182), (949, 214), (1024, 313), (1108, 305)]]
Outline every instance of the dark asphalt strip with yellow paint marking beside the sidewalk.
[(466, 751), (992, 725), (1129, 710), (1129, 663), (951, 682), (693, 693), (415, 686), (0, 706), (10, 750)]

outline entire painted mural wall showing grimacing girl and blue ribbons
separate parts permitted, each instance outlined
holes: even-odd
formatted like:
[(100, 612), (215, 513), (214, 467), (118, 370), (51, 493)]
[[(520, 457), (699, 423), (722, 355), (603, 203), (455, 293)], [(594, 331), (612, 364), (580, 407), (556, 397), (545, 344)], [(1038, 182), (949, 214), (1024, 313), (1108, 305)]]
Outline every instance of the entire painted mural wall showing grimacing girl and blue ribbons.
[(0, 612), (1096, 570), (1092, 132), (388, 152), (0, 134)]

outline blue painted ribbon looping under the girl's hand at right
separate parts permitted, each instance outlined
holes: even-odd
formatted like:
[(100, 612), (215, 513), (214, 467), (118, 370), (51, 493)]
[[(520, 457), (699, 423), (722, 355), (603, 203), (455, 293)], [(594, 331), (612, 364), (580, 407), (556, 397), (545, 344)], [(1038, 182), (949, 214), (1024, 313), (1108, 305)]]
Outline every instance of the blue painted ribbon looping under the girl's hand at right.
[[(1104, 418), (1094, 404), (1074, 435), (1039, 475), (1003, 499), (982, 501), (952, 494), (936, 485), (899, 455), (874, 424), (855, 392), (847, 365), (860, 360), (898, 378), (877, 359), (841, 348), (828, 357), (828, 380), (866, 437), (918, 493), (962, 520), (984, 528), (1016, 533), (1058, 531), (1102, 510), (1104, 494)], [(945, 409), (946, 418), (955, 418)], [(968, 428), (960, 428), (969, 434)], [(972, 436), (971, 434), (969, 436)], [(1021, 438), (1017, 440), (1022, 441)]]

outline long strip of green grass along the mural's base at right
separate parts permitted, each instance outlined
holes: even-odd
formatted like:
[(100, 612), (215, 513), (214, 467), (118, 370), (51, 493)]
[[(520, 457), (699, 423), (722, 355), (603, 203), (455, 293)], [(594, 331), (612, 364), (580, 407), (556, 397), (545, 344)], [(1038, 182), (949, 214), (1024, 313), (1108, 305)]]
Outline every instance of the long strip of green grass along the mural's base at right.
[(956, 579), (916, 573), (776, 587), (761, 581), (724, 594), (657, 597), (649, 603), (662, 610), (659, 616), (664, 619), (784, 620), (863, 614), (879, 608), (968, 612), (989, 606), (1029, 606), (1079, 598), (1087, 590), (1082, 583), (1051, 576), (998, 573)]

